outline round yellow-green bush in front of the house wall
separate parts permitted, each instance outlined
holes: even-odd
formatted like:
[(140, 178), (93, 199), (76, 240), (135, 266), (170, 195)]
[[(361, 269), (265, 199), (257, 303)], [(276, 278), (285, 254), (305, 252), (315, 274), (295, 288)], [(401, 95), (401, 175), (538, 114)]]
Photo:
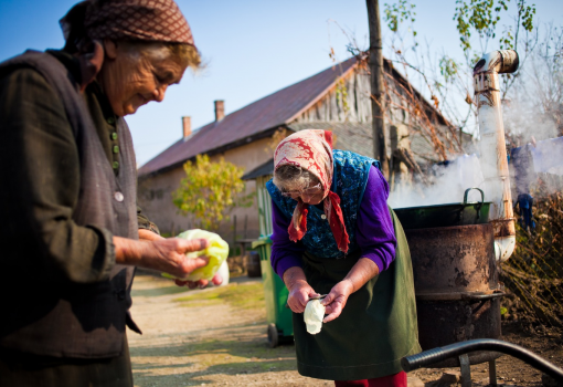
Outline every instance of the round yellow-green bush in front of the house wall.
[(173, 202), (180, 213), (192, 215), (198, 227), (216, 231), (235, 207), (252, 206), (254, 194), (243, 195), (243, 168), (223, 158), (211, 163), (208, 155), (198, 155), (183, 170), (185, 177), (172, 194)]

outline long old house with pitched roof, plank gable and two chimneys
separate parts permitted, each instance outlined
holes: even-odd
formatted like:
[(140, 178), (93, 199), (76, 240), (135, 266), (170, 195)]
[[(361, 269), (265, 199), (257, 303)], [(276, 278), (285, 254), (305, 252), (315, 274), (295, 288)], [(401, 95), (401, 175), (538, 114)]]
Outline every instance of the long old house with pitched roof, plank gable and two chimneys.
[[(447, 122), (390, 62), (385, 63), (385, 72), (386, 77), (393, 81), (387, 81), (387, 84), (394, 90), (389, 93), (393, 103), (389, 104), (386, 116), (391, 147), (406, 144), (418, 163), (437, 160), (432, 142), (412, 129), (410, 112), (413, 109), (402, 107), (410, 102), (401, 98), (401, 93), (410, 91), (416, 98), (417, 114), (426, 115), (437, 127), (445, 127)], [(215, 121), (193, 132), (190, 118), (184, 117), (183, 138), (138, 170), (139, 205), (163, 232), (178, 233), (193, 227), (188, 218), (178, 213), (172, 203), (172, 191), (184, 175), (182, 165), (199, 154), (208, 154), (212, 160), (224, 157), (243, 167), (247, 175), (253, 171), (256, 175), (256, 168), (267, 169), (272, 164), (275, 142), (307, 128), (332, 130), (336, 148), (373, 154), (370, 75), (364, 60), (352, 57), (226, 116), (223, 112), (223, 102), (216, 101)], [(449, 133), (444, 129), (438, 130), (438, 135), (446, 138)], [(247, 180), (247, 191), (255, 189), (256, 182)], [(256, 205), (235, 209), (232, 215), (238, 220), (237, 238), (258, 236)], [(246, 227), (243, 226), (245, 219)], [(232, 221), (225, 223), (220, 230), (227, 240), (233, 240), (232, 224)], [(246, 229), (245, 236), (242, 234), (243, 228)]]

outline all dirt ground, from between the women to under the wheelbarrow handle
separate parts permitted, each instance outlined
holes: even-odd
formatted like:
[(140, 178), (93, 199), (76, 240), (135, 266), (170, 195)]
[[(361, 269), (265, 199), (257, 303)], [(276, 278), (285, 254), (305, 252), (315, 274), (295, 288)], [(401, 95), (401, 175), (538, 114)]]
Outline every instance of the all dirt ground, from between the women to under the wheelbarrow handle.
[[(137, 275), (132, 316), (144, 331), (128, 332), (136, 387), (333, 386), (296, 372), (293, 345), (269, 348), (259, 280), (240, 278), (224, 287), (188, 291), (169, 280)], [(183, 299), (183, 300), (182, 300)], [(563, 366), (563, 337), (502, 337)], [(499, 386), (541, 386), (541, 374), (513, 357), (497, 360)], [(418, 369), (410, 387), (437, 383), (453, 369)], [(452, 378), (452, 377), (450, 377)], [(488, 384), (487, 364), (471, 366), (474, 386)]]

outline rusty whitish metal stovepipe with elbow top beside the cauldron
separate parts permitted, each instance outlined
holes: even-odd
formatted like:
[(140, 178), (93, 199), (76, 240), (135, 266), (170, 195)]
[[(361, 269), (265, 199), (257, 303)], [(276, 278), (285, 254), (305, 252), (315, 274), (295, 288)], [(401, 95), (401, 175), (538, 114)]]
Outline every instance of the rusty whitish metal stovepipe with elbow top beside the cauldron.
[(513, 73), (518, 65), (518, 53), (514, 50), (502, 50), (485, 54), (474, 67), (485, 192), (492, 201), (490, 216), (495, 229), (495, 252), (501, 262), (508, 260), (514, 251), (516, 228), (499, 74)]

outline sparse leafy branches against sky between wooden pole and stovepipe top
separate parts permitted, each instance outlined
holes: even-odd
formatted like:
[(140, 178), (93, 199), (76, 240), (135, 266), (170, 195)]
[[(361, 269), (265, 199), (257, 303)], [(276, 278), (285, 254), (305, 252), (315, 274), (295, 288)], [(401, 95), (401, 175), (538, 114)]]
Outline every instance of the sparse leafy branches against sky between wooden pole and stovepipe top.
[[(416, 4), (419, 3), (416, 0), (384, 3), (383, 22), (392, 32), (390, 60), (402, 65), (405, 74), (411, 71), (416, 74), (427, 88), (427, 97), (457, 128), (450, 130), (450, 137), (456, 138), (455, 132), (459, 129), (472, 132), (477, 113), (472, 103), (472, 67), (485, 53), (497, 49), (513, 49), (519, 53), (519, 71), (501, 75), (502, 98), (509, 96), (521, 77), (538, 42), (535, 4), (527, 0), (456, 0), (453, 20), (461, 53), (456, 55), (431, 53), (428, 43), (427, 53), (421, 51), (415, 28)], [(459, 144), (453, 148), (463, 150), (458, 139), (453, 144)]]

